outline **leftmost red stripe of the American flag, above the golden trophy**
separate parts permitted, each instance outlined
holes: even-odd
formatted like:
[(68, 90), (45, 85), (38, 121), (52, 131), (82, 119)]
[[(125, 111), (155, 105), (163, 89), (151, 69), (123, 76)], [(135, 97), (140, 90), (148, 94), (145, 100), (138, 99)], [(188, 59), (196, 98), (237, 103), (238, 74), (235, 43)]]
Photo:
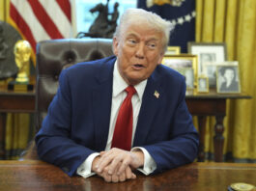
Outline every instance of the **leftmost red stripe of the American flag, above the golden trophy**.
[(10, 7), (11, 7), (10, 15), (12, 19), (16, 21), (16, 25), (19, 28), (19, 30), (22, 32), (22, 35), (27, 39), (27, 41), (30, 42), (33, 50), (35, 51), (37, 42), (35, 41), (29, 26), (27, 25), (25, 20), (22, 18), (22, 16), (17, 12), (13, 3), (10, 4)]

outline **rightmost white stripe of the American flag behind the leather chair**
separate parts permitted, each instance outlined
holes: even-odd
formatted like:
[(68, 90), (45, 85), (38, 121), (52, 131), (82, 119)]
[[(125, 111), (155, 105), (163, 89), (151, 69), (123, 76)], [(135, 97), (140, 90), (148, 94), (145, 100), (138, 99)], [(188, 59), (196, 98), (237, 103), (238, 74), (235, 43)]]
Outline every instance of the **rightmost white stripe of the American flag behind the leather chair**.
[[(71, 37), (71, 22), (56, 1), (39, 0), (64, 38)], [(60, 19), (61, 18), (61, 19)]]

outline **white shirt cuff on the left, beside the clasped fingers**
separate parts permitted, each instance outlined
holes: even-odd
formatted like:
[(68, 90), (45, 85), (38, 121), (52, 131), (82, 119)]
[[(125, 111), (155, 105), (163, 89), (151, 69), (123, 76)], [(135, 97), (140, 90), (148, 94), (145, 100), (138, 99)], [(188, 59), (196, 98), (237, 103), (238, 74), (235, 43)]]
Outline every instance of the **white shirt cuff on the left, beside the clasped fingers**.
[(96, 156), (99, 156), (100, 153), (95, 152), (90, 154), (86, 160), (77, 168), (76, 170), (76, 174), (81, 176), (81, 177), (92, 177), (94, 176), (96, 173), (92, 172), (92, 163), (95, 159)]

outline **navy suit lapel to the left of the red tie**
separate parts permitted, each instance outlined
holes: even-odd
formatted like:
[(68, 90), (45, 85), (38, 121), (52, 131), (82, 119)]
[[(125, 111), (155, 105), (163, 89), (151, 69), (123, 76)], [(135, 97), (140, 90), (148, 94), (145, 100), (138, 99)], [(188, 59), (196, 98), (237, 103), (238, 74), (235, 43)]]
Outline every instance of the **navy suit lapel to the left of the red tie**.
[(96, 76), (98, 86), (93, 91), (96, 150), (104, 150), (108, 137), (111, 114), (113, 67), (115, 59), (103, 63)]

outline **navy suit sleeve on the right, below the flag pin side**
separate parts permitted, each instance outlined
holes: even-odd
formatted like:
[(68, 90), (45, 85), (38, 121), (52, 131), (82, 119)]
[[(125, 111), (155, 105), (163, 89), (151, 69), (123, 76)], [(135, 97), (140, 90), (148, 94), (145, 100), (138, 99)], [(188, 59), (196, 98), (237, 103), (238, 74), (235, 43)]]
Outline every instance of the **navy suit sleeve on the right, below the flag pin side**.
[(185, 104), (185, 82), (178, 97), (174, 115), (169, 116), (173, 120), (168, 140), (143, 146), (156, 162), (154, 174), (190, 163), (197, 156), (198, 133)]

